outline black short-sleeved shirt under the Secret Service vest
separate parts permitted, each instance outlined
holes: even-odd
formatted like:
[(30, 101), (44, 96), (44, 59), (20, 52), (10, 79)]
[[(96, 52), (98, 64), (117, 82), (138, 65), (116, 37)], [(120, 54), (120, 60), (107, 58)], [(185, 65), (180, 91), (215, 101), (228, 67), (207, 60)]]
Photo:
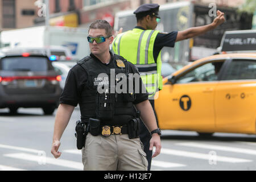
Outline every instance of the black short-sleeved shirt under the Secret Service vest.
[[(94, 56), (92, 53), (90, 54), (90, 57), (93, 57), (95, 61), (100, 61), (103, 67), (109, 67), (114, 68), (114, 56), (113, 53), (110, 52), (111, 59), (109, 64), (101, 63), (100, 60), (97, 59), (96, 56)], [(137, 68), (131, 64), (129, 61), (127, 61), (128, 67), (129, 67), (129, 73), (138, 73)], [(65, 82), (65, 86), (63, 89), (63, 92), (60, 96), (60, 104), (68, 104), (72, 106), (77, 106), (80, 101), (82, 90), (84, 89), (84, 86), (87, 82), (88, 75), (84, 69), (78, 64), (76, 64), (73, 68), (71, 68), (68, 72), (67, 80)], [(139, 82), (141, 86), (144, 87), (144, 84), (139, 79)], [(146, 89), (143, 89), (146, 90)], [(146, 101), (148, 99), (148, 93), (135, 93), (136, 99), (133, 102), (134, 104), (139, 104), (140, 102)]]

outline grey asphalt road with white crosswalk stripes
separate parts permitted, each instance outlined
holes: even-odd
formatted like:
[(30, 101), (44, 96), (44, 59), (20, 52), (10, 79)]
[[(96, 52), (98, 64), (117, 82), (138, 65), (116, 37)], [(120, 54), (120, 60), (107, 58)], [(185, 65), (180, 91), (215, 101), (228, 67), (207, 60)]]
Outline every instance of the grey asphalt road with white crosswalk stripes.
[[(0, 170), (82, 170), (76, 149), (78, 109), (61, 138), (59, 159), (51, 155), (55, 113), (19, 109), (10, 115), (0, 109)], [(191, 131), (164, 130), (162, 152), (152, 160), (152, 170), (256, 170), (256, 135), (216, 133), (205, 139)]]

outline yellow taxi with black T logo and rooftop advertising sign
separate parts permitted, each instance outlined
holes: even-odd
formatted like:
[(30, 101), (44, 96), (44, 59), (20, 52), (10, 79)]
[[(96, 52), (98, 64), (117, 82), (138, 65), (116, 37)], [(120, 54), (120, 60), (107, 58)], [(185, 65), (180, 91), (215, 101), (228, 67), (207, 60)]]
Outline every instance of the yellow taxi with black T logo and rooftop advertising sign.
[(226, 32), (222, 53), (164, 78), (155, 99), (160, 129), (197, 131), (203, 136), (256, 134), (255, 38), (256, 30)]

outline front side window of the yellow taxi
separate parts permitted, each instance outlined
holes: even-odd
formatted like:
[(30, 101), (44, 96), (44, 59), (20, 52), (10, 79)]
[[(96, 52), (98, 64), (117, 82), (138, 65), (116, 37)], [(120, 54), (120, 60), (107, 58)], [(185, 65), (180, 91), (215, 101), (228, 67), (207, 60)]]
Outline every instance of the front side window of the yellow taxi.
[(185, 75), (177, 78), (177, 84), (184, 84), (188, 82), (197, 81), (216, 81), (218, 80), (218, 72), (220, 71), (224, 60), (213, 61), (211, 63), (203, 64)]

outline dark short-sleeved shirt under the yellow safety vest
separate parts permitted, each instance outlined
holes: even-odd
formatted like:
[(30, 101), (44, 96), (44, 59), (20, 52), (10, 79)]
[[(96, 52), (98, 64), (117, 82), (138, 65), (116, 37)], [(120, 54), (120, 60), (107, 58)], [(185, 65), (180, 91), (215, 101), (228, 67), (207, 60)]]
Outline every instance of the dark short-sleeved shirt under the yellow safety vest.
[[(139, 27), (139, 26), (136, 26), (135, 28), (145, 30), (143, 27)], [(159, 52), (163, 47), (174, 47), (176, 38), (177, 38), (177, 31), (172, 31), (170, 33), (159, 32), (158, 35), (156, 35), (154, 48), (153, 48), (153, 56), (154, 56), (155, 62), (156, 62), (156, 59), (158, 58)]]

